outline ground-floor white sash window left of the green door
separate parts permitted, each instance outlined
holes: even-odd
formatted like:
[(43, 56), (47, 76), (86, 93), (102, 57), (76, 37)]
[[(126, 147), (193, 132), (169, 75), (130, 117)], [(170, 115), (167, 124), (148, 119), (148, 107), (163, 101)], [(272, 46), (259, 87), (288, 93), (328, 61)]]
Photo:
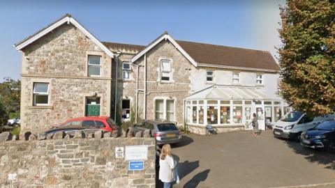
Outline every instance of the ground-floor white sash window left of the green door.
[(34, 83), (34, 106), (47, 106), (49, 104), (49, 84)]

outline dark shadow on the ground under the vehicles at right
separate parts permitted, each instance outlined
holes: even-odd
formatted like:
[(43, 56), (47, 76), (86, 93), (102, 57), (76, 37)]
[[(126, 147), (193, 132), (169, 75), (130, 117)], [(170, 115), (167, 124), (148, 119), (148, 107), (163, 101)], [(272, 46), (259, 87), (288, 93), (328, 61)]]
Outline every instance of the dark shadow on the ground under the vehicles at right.
[(295, 141), (284, 141), (288, 144), (288, 147), (292, 148), (295, 153), (303, 155), (308, 162), (323, 164), (325, 165), (325, 169), (335, 170), (335, 154), (326, 152), (324, 150), (313, 150), (312, 148), (306, 148)]

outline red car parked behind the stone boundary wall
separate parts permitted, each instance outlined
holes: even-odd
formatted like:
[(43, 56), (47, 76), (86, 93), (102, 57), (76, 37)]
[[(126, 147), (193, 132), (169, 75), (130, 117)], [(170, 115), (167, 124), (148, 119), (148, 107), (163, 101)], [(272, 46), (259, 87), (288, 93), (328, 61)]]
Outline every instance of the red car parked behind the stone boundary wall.
[(56, 132), (67, 132), (70, 135), (75, 134), (75, 131), (96, 131), (103, 130), (112, 132), (117, 130), (117, 124), (112, 119), (105, 116), (87, 116), (82, 118), (73, 118), (67, 120), (65, 123), (54, 126), (52, 129), (47, 130), (45, 134), (54, 134)]

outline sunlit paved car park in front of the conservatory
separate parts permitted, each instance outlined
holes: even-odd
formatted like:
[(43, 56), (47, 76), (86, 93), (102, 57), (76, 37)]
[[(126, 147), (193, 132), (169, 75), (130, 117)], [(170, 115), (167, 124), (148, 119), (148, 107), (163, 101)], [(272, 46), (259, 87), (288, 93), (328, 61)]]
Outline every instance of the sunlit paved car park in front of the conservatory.
[(181, 178), (174, 187), (335, 187), (335, 155), (275, 139), (271, 131), (257, 138), (188, 134), (172, 152)]

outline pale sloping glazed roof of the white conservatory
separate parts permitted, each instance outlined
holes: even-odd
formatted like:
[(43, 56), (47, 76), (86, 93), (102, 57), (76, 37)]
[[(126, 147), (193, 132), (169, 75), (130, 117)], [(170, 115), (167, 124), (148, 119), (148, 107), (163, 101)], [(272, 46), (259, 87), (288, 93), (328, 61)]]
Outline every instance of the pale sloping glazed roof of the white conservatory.
[(186, 100), (265, 100), (268, 97), (258, 87), (213, 85), (186, 97)]

